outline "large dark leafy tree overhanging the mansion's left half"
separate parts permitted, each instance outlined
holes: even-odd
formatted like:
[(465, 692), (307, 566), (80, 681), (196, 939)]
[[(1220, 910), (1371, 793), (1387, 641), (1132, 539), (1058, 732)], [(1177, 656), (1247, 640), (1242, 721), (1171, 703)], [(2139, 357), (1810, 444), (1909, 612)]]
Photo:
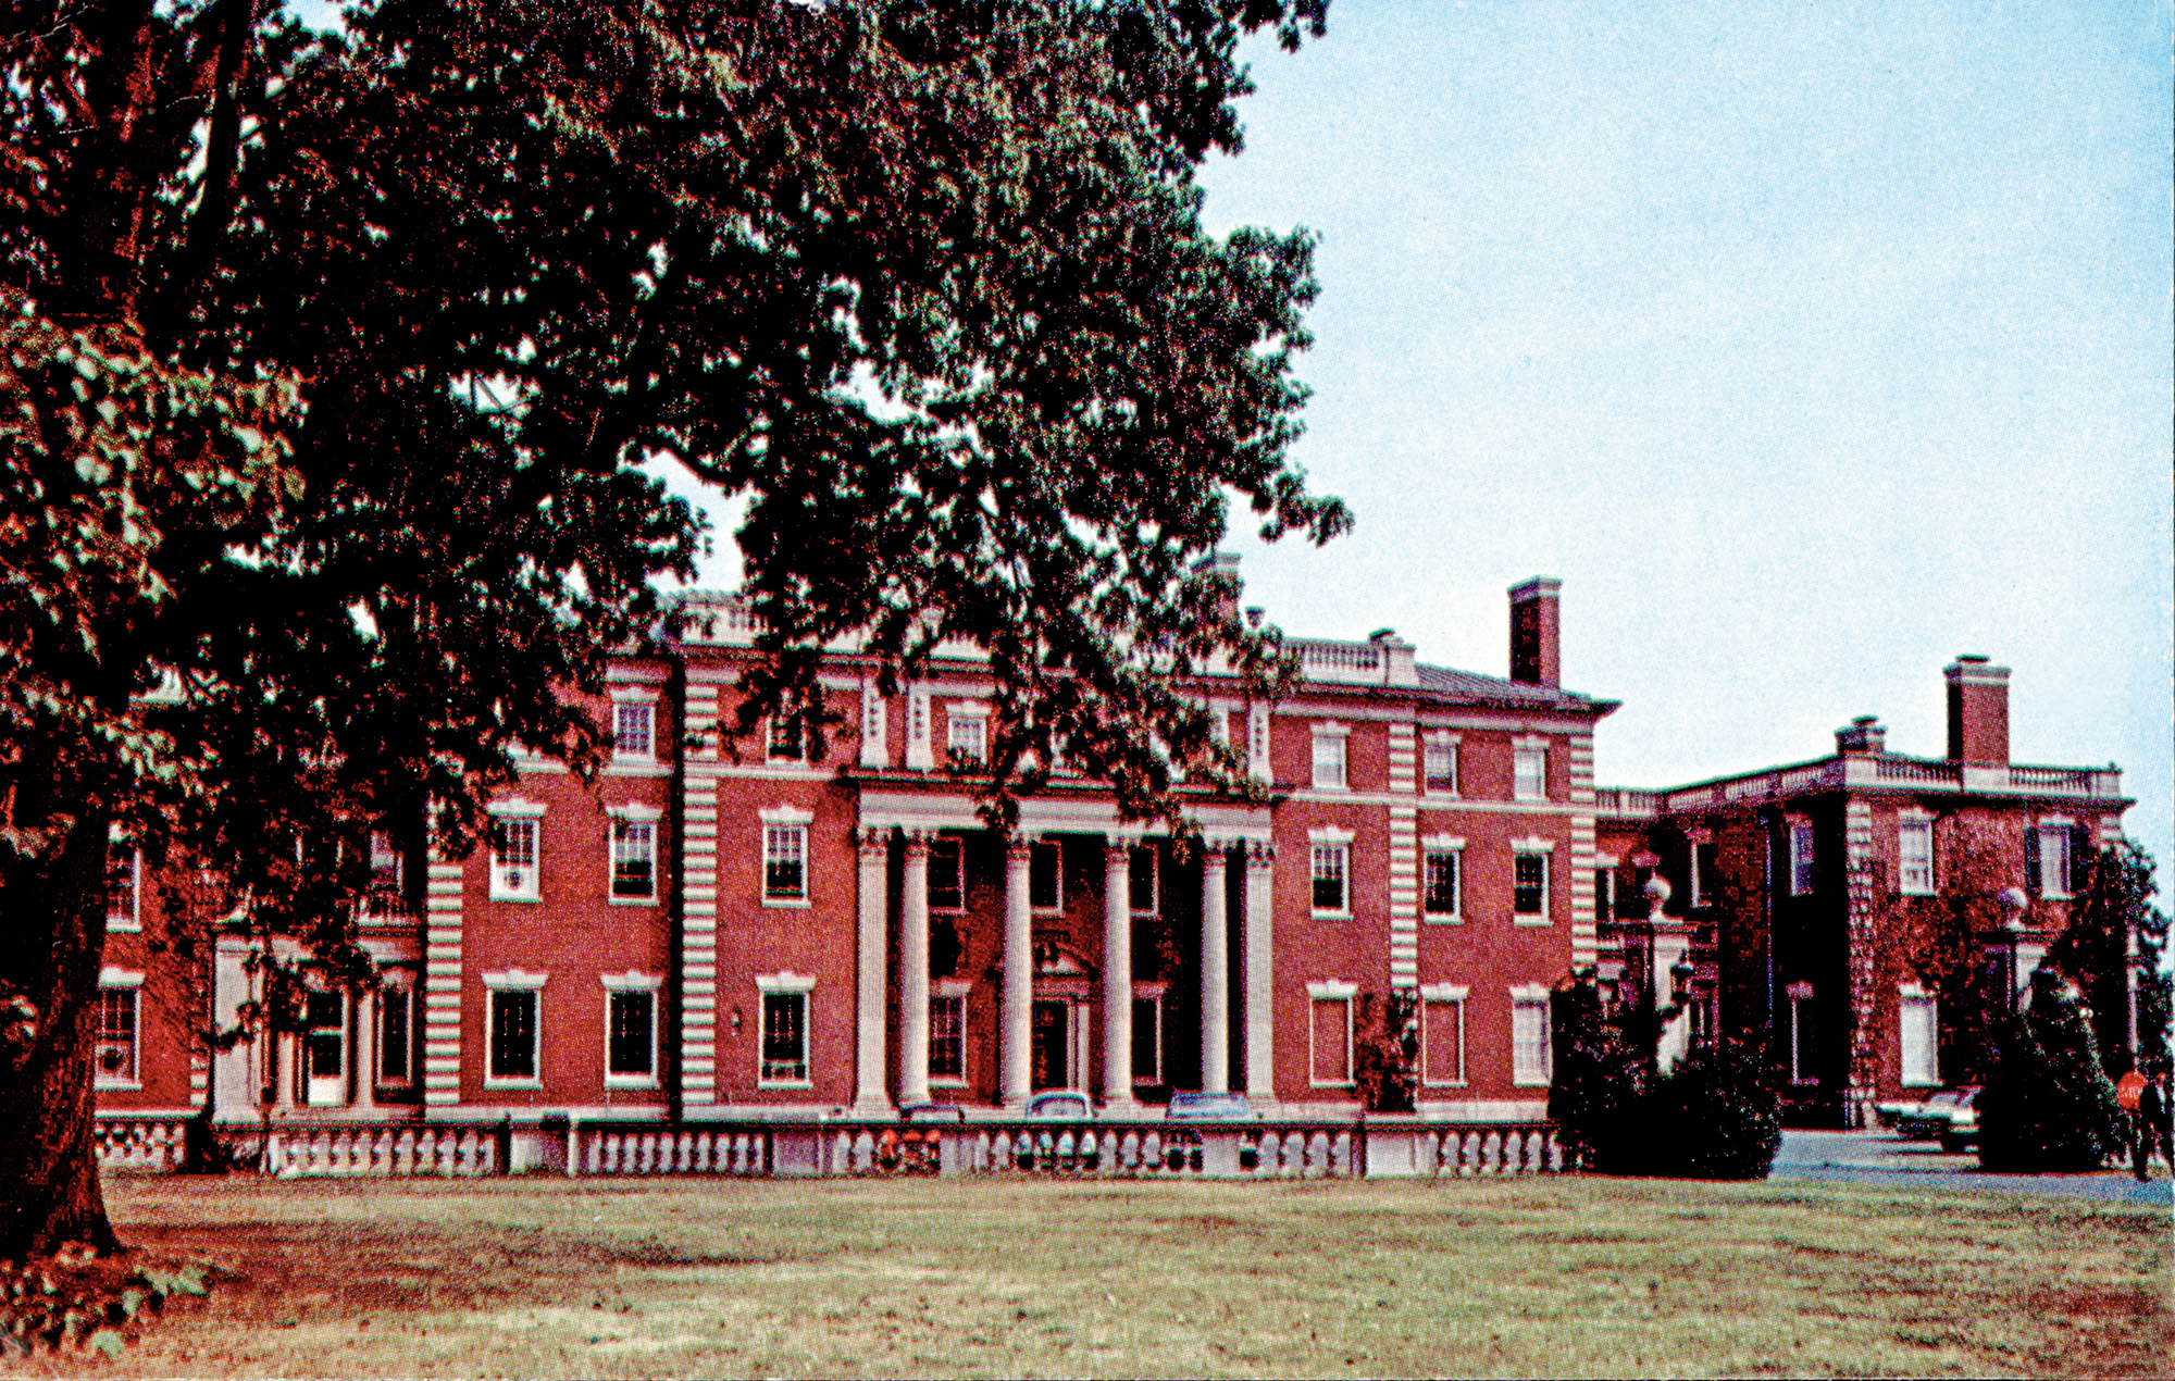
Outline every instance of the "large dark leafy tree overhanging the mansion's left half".
[(331, 822), (457, 846), (515, 744), (596, 766), (563, 692), (700, 542), (650, 457), (750, 498), (748, 722), (842, 631), (894, 672), (966, 637), (998, 800), (1059, 757), (1135, 813), (1227, 774), (1185, 679), (1275, 635), (1201, 559), (1233, 498), (1346, 515), (1290, 463), (1312, 239), (1207, 235), (1192, 170), (1240, 144), (1238, 41), (1325, 4), (11, 7), (0, 1103), (52, 1111), (0, 1124), (0, 1200), (89, 1155), (111, 829), (337, 948)]

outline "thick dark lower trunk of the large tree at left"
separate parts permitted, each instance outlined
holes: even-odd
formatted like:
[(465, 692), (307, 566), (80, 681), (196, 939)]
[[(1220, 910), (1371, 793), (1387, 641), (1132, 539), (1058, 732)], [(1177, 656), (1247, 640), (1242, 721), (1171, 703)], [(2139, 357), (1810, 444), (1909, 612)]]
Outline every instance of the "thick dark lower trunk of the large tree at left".
[(120, 1251), (98, 1187), (91, 1048), (107, 948), (107, 816), (0, 885), (0, 1259), (67, 1242)]

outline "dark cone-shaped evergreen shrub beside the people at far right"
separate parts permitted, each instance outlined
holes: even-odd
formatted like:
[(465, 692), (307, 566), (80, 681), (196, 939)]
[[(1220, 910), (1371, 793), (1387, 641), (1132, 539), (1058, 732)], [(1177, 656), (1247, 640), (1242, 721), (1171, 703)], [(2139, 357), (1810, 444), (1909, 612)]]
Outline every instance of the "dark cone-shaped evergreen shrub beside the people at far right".
[(1979, 1094), (1979, 1164), (2038, 1174), (2097, 1170), (2129, 1144), (2129, 1118), (2099, 1061), (2075, 987), (2051, 968), (1997, 1031), (1994, 1072)]

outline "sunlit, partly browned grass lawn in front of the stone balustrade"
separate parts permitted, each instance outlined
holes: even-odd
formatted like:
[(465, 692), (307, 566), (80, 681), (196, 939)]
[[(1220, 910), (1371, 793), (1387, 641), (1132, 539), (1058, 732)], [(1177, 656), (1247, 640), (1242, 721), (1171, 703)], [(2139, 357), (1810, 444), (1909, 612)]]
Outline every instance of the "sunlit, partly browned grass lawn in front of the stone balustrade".
[[(104, 1374), (2168, 1374), (2164, 1209), (1607, 1179), (109, 1179)], [(15, 1364), (94, 1370), (83, 1357)]]

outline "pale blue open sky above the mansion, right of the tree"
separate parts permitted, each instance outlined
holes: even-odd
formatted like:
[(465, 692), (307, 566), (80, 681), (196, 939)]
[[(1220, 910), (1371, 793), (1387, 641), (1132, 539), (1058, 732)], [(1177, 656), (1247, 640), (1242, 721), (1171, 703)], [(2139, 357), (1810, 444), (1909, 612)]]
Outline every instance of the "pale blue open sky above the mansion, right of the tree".
[(1211, 228), (1320, 235), (1296, 635), (1503, 674), (1564, 581), (1603, 783), (1799, 761), (1942, 668), (2171, 857), (2168, 4), (1388, 4), (1259, 46)]

